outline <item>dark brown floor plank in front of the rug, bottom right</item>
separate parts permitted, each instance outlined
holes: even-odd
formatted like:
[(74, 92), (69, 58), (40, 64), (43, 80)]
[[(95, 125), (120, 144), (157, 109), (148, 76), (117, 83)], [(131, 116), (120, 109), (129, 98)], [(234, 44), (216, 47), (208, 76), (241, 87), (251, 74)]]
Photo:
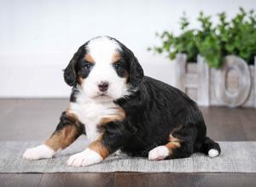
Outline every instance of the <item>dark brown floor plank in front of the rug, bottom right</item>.
[[(256, 173), (116, 173), (114, 186), (254, 186)], [(132, 181), (132, 183), (131, 183)]]

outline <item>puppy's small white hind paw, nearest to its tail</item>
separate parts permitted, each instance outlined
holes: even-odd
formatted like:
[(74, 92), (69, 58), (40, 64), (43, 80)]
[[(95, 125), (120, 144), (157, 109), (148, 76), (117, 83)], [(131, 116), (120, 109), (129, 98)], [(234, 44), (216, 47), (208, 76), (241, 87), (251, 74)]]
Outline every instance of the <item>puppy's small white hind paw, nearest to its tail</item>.
[(166, 156), (169, 156), (169, 150), (164, 145), (158, 146), (148, 153), (148, 159), (150, 161), (164, 160)]

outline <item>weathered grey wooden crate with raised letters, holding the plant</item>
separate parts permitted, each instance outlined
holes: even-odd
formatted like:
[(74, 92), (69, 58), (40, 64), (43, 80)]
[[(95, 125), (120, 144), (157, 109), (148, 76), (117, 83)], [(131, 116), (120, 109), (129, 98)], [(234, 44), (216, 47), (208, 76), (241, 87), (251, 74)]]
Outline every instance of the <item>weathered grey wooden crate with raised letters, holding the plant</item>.
[(188, 63), (186, 54), (175, 59), (175, 86), (198, 105), (256, 108), (256, 60), (254, 65), (234, 55), (226, 56), (219, 69), (209, 68), (200, 55)]

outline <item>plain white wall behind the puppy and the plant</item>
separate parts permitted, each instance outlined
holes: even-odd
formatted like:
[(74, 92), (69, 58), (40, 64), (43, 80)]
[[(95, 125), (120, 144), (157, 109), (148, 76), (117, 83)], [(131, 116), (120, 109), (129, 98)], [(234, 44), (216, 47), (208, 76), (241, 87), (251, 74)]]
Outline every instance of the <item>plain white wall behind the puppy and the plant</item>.
[(62, 76), (73, 54), (91, 37), (108, 35), (137, 55), (145, 74), (172, 84), (173, 65), (147, 51), (155, 31), (178, 32), (183, 11), (236, 14), (255, 0), (0, 0), (0, 97), (67, 97)]

